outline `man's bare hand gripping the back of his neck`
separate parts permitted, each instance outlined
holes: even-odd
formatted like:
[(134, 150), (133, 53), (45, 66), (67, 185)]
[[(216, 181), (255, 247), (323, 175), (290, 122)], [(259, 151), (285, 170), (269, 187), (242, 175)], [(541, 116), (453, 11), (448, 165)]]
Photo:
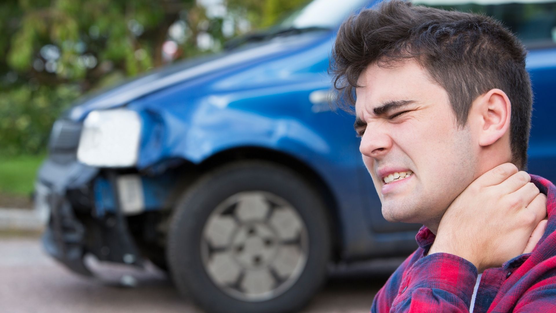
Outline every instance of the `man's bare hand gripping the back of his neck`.
[(479, 273), (533, 250), (544, 233), (547, 197), (505, 163), (475, 179), (442, 217), (432, 253), (465, 258)]

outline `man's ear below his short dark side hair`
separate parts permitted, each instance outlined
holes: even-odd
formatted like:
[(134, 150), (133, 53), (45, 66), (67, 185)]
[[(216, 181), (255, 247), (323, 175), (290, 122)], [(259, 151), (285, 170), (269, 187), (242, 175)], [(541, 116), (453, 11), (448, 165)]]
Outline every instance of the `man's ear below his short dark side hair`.
[[(506, 93), (492, 89), (473, 101), (475, 113), (478, 114), (481, 131), (479, 145), (488, 146), (502, 138), (510, 128), (512, 105)], [(476, 115), (475, 115), (476, 116)]]

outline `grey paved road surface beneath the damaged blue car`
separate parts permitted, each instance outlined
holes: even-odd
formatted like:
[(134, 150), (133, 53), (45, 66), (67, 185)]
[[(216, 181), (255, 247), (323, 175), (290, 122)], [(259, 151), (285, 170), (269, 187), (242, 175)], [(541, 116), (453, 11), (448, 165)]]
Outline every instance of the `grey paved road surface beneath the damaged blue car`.
[[(333, 270), (324, 290), (303, 313), (368, 312), (374, 294), (399, 262), (381, 261)], [(201, 312), (191, 300), (181, 298), (165, 275), (154, 267), (146, 271), (98, 263), (94, 267), (104, 273), (105, 281), (73, 275), (44, 255), (38, 238), (0, 236), (0, 311)], [(136, 287), (118, 287), (117, 281), (126, 274), (136, 278)]]

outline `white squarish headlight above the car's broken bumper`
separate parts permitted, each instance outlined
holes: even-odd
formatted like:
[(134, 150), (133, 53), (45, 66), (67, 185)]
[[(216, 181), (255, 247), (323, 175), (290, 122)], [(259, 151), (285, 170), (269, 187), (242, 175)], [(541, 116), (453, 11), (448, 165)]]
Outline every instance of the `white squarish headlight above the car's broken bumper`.
[(91, 111), (83, 121), (77, 159), (95, 167), (131, 167), (137, 163), (140, 136), (137, 112)]

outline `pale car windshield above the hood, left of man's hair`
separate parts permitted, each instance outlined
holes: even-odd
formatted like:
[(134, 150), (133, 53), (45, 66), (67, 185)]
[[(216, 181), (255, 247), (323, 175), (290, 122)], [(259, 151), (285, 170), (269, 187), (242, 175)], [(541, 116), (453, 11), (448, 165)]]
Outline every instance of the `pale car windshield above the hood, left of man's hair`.
[(369, 0), (313, 0), (280, 23), (279, 28), (333, 28)]

